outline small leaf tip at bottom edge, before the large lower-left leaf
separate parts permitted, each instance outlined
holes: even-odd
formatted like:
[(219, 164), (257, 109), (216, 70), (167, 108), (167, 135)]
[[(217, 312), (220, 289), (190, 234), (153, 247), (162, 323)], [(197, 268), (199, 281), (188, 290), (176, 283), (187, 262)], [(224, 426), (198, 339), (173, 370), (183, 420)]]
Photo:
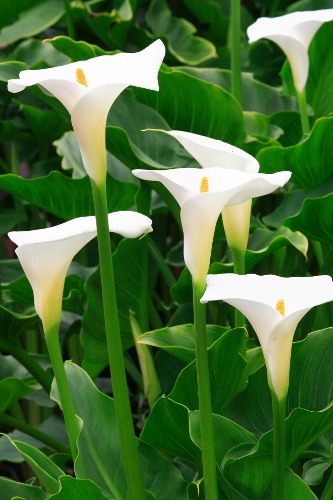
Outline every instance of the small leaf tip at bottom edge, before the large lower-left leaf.
[(60, 491), (49, 498), (54, 500), (107, 500), (96, 484), (87, 479), (75, 479), (71, 476), (59, 478)]

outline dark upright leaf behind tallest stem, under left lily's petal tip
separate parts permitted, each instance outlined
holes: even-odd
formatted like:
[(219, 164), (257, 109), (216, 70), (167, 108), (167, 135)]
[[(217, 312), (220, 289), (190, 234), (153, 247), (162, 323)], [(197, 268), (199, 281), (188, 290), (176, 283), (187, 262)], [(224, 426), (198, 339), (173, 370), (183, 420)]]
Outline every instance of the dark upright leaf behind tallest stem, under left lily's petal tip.
[[(139, 239), (122, 240), (113, 258), (124, 349), (133, 345), (129, 311), (135, 313), (142, 331), (148, 328), (146, 259), (146, 242)], [(87, 297), (88, 307), (83, 317), (81, 333), (85, 348), (83, 366), (94, 378), (108, 364), (99, 271), (94, 273), (87, 282)]]

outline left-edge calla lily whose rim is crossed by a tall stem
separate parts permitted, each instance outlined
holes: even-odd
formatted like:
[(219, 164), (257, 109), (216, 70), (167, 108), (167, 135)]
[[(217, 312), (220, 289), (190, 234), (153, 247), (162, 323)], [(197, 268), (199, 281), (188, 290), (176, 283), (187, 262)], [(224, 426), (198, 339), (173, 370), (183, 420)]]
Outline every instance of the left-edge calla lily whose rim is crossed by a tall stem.
[[(125, 238), (152, 231), (151, 220), (136, 212), (114, 212), (108, 219), (110, 231)], [(96, 234), (93, 216), (46, 229), (8, 233), (18, 245), (16, 254), (32, 286), (35, 309), (46, 333), (60, 323), (64, 282), (72, 259)]]

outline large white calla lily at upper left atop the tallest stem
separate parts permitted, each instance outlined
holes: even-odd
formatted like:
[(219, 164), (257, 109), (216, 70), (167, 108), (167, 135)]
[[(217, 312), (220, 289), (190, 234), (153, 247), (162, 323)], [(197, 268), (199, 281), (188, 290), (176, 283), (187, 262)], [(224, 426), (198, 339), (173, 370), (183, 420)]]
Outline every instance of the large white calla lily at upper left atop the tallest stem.
[(110, 107), (129, 85), (158, 90), (165, 54), (161, 40), (137, 53), (100, 56), (49, 69), (21, 71), (8, 82), (10, 92), (39, 84), (71, 114), (87, 174), (98, 185), (106, 175), (105, 125)]

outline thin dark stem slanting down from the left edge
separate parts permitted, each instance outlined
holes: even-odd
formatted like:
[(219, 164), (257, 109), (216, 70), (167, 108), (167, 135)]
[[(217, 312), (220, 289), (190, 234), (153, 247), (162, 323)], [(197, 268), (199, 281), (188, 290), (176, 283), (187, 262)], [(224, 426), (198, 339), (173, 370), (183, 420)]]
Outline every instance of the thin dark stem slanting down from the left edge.
[(13, 356), (13, 358), (19, 361), (19, 363), (21, 363), (21, 365), (23, 365), (28, 372), (35, 377), (43, 389), (45, 389), (48, 394), (50, 393), (52, 383), (51, 375), (49, 372), (44, 370), (28, 352), (22, 349), (18, 342), (10, 344), (5, 340), (0, 340), (0, 349), (8, 352)]

